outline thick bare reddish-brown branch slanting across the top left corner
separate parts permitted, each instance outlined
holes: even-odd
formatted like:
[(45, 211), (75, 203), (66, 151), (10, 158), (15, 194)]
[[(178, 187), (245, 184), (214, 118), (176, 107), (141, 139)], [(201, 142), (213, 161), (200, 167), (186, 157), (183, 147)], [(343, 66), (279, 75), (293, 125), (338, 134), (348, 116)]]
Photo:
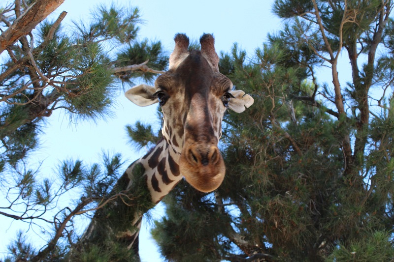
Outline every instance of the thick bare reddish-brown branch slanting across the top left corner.
[[(65, 0), (40, 0), (33, 2), (14, 23), (0, 35), (0, 54), (19, 38), (29, 34), (42, 20)], [(18, 1), (16, 1), (18, 2)]]

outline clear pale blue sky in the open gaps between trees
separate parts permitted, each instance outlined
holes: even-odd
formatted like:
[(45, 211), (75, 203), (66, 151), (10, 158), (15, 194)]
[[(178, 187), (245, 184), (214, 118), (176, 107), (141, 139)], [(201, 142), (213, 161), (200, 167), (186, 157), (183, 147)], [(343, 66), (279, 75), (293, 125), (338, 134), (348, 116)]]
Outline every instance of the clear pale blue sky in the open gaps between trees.
[[(10, 0), (7, 0), (10, 2)], [(62, 11), (68, 14), (63, 26), (71, 20), (89, 21), (90, 11), (98, 4), (110, 4), (109, 0), (65, 0), (52, 14), (56, 19)], [(237, 42), (252, 56), (257, 47), (266, 40), (267, 33), (280, 29), (281, 20), (271, 13), (273, 0), (118, 0), (119, 6), (136, 6), (144, 24), (140, 25), (139, 38), (160, 40), (168, 55), (174, 47), (173, 37), (177, 32), (186, 33), (191, 39), (198, 39), (203, 33), (213, 33), (216, 51), (229, 52)], [(346, 65), (344, 65), (346, 67)], [(341, 72), (341, 70), (338, 70)], [(78, 121), (70, 123), (64, 111), (55, 112), (43, 129), (42, 147), (33, 154), (37, 161), (43, 161), (41, 174), (53, 173), (59, 161), (79, 158), (87, 163), (100, 161), (101, 151), (120, 152), (126, 166), (141, 157), (144, 151), (137, 151), (127, 144), (127, 124), (136, 120), (157, 124), (156, 106), (139, 108), (127, 100), (123, 93), (117, 94), (114, 115), (96, 123)], [(78, 139), (74, 137), (77, 135)], [(160, 218), (163, 208), (152, 211), (154, 218)], [(27, 230), (25, 225), (0, 217), (0, 235), (13, 237), (15, 229)], [(8, 227), (8, 225), (10, 225)], [(143, 225), (140, 234), (141, 259), (145, 262), (162, 261), (157, 248), (149, 241), (149, 227)], [(1, 238), (0, 252), (4, 252), (8, 239)], [(37, 238), (38, 239), (38, 238)], [(33, 238), (34, 240), (34, 238)], [(3, 254), (0, 253), (0, 257)]]

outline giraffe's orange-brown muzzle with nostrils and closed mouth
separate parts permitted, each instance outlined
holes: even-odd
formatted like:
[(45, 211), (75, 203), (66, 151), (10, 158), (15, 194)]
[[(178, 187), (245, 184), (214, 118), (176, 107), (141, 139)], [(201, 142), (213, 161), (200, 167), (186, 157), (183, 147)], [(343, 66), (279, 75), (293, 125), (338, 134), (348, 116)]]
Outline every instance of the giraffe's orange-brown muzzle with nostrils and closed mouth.
[(189, 184), (206, 193), (217, 189), (226, 174), (223, 157), (215, 145), (184, 146), (179, 169)]

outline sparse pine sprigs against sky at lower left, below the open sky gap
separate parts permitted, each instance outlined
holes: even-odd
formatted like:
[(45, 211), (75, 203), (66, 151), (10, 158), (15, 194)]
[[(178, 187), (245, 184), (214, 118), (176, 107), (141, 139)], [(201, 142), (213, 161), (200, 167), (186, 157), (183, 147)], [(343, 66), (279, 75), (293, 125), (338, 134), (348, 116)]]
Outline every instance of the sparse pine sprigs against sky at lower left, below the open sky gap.
[[(103, 163), (93, 164), (88, 167), (80, 160), (64, 161), (57, 171), (56, 180), (48, 178), (39, 181), (37, 175), (32, 170), (21, 170), (19, 175), (15, 177), (15, 186), (10, 189), (5, 201), (13, 205), (23, 205), (18, 211), (7, 210), (8, 213), (18, 217), (19, 220), (43, 220), (57, 221), (57, 224), (41, 225), (50, 231), (57, 232), (58, 225), (65, 223), (67, 229), (66, 235), (69, 239), (73, 239), (72, 229), (74, 228), (74, 217), (70, 217), (71, 212), (80, 212), (80, 214), (89, 213), (86, 211), (90, 208), (96, 208), (98, 205), (105, 203), (113, 196), (113, 188), (118, 180), (120, 171), (123, 167), (120, 154), (110, 156), (103, 153)], [(8, 181), (10, 184), (11, 181)], [(78, 194), (81, 196), (79, 200), (68, 203), (69, 195)], [(60, 204), (63, 203), (63, 204)], [(62, 206), (65, 206), (62, 208)], [(43, 212), (43, 210), (59, 209), (56, 214)], [(42, 234), (41, 237), (45, 237)], [(50, 235), (49, 235), (50, 236)], [(77, 239), (75, 239), (77, 240)], [(53, 249), (48, 250), (45, 255), (41, 255), (41, 261), (61, 261), (69, 252), (70, 244), (58, 243)], [(112, 243), (114, 244), (114, 243)], [(30, 257), (32, 260), (40, 256), (33, 249), (33, 245), (27, 244), (25, 235), (19, 234), (17, 241), (10, 247), (12, 258)], [(29, 251), (29, 252), (28, 252)], [(116, 254), (124, 253), (125, 250), (112, 252)], [(112, 258), (112, 257), (111, 257)]]

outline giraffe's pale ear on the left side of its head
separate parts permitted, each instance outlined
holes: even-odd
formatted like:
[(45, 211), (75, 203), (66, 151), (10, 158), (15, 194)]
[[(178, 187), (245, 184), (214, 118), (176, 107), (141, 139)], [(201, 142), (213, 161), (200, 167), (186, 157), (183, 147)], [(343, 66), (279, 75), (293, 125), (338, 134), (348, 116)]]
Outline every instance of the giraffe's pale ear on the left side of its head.
[(155, 92), (155, 87), (142, 84), (131, 87), (131, 89), (126, 91), (125, 95), (131, 102), (133, 102), (137, 106), (145, 107), (159, 102), (157, 97), (153, 96)]

